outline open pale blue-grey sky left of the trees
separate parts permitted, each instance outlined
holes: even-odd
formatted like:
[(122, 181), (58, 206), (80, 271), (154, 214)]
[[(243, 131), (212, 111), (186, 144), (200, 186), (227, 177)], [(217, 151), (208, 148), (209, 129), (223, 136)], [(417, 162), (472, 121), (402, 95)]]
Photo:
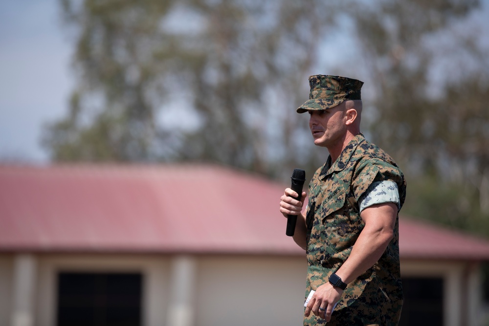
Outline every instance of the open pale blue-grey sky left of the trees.
[[(482, 2), (471, 21), (489, 22), (489, 0)], [(74, 40), (60, 10), (58, 0), (0, 1), (0, 162), (49, 162), (43, 126), (66, 114), (74, 86)]]

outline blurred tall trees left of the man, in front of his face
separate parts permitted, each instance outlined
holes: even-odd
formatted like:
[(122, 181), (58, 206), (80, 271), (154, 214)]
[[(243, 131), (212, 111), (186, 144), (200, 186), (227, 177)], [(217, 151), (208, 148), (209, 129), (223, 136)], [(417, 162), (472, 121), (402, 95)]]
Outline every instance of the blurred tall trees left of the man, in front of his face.
[(278, 163), (291, 171), (288, 152), (311, 160), (312, 145), (294, 141), (309, 135), (294, 108), (332, 5), (61, 3), (78, 85), (67, 117), (44, 134), (54, 160), (200, 160), (268, 174)]

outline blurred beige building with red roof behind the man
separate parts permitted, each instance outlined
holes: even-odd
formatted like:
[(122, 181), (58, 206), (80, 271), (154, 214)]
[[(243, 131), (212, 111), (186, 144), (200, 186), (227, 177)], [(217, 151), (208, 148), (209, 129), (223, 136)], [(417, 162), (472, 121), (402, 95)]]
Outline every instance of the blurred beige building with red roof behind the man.
[[(208, 165), (2, 166), (0, 326), (301, 325), (284, 187)], [(488, 240), (401, 216), (400, 255), (402, 325), (480, 325)]]

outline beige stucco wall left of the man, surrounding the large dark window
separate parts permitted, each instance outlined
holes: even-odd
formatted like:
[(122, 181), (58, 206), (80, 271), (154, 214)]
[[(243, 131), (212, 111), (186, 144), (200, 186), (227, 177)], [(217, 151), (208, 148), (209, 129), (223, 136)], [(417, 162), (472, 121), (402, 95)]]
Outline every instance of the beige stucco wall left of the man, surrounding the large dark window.
[[(12, 326), (13, 261), (0, 256), (0, 326)], [(38, 254), (35, 261), (32, 326), (56, 320), (60, 271), (140, 272), (143, 275), (143, 325), (168, 325), (175, 286), (185, 282), (191, 295), (191, 326), (277, 325), (302, 322), (306, 262), (301, 257), (184, 256), (194, 271), (181, 271), (181, 256)], [(183, 264), (185, 267), (185, 264)], [(187, 275), (188, 274), (188, 275)], [(182, 279), (182, 275), (184, 276)], [(178, 280), (179, 278), (179, 280)], [(184, 296), (185, 297), (185, 296)], [(189, 311), (189, 310), (187, 310)], [(262, 322), (264, 321), (264, 322)], [(180, 325), (173, 325), (180, 326)], [(184, 326), (184, 325), (182, 325)]]

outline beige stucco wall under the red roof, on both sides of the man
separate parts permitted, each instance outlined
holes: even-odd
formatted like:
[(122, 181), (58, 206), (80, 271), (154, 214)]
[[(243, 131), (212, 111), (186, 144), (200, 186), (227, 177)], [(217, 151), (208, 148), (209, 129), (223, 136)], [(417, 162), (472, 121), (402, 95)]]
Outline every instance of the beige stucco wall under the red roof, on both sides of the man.
[[(11, 319), (13, 284), (14, 280), (19, 281), (14, 275), (18, 266), (14, 262), (19, 257), (0, 255), (0, 326), (16, 326), (11, 324)], [(141, 273), (144, 326), (296, 326), (302, 323), (305, 257), (117, 254), (25, 257), (31, 257), (35, 267), (32, 269), (35, 272), (34, 323), (30, 326), (55, 325), (57, 273), (68, 270)], [(464, 315), (461, 307), (467, 304), (462, 302), (462, 289), (471, 289), (465, 297), (470, 312), (476, 312), (480, 304), (477, 292), (480, 275), (476, 267), (459, 262), (402, 261), (401, 273), (403, 277), (442, 277), (445, 325), (456, 326), (461, 325)], [(186, 314), (186, 318), (178, 318), (178, 312), (180, 317), (181, 312)], [(467, 325), (478, 325), (477, 318), (469, 320)]]

